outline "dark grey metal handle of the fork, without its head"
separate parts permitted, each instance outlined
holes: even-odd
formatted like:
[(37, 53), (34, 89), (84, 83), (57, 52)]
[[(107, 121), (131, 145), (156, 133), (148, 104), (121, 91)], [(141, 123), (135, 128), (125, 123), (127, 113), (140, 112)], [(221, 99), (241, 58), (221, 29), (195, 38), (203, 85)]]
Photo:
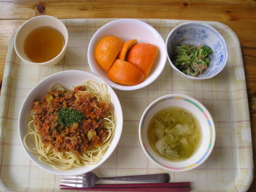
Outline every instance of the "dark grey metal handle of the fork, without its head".
[(169, 181), (169, 174), (158, 173), (151, 175), (133, 175), (122, 177), (104, 177), (100, 180), (118, 180), (118, 181), (137, 181), (137, 182), (151, 182), (151, 183), (165, 183)]

